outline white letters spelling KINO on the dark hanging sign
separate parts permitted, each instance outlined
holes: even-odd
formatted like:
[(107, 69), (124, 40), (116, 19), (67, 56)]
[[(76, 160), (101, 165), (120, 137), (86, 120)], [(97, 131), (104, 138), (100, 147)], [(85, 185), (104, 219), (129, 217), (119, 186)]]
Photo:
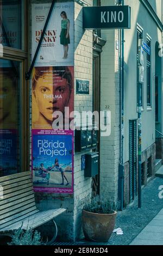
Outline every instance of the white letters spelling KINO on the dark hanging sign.
[(101, 11), (101, 23), (113, 23), (123, 22), (124, 14), (123, 11)]

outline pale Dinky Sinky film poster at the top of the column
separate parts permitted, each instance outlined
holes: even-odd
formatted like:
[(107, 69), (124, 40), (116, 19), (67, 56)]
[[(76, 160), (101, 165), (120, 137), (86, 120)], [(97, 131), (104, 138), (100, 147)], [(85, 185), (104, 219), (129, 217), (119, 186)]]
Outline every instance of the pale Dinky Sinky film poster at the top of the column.
[[(34, 57), (51, 3), (32, 4)], [(35, 66), (74, 65), (74, 2), (55, 3)]]

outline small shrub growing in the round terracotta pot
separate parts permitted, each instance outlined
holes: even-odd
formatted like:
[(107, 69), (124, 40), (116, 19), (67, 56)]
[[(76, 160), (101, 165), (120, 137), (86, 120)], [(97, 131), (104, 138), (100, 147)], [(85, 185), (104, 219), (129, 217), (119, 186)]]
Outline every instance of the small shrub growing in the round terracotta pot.
[(118, 209), (118, 205), (108, 201), (103, 197), (96, 196), (86, 202), (83, 210), (93, 212), (95, 214), (113, 214)]

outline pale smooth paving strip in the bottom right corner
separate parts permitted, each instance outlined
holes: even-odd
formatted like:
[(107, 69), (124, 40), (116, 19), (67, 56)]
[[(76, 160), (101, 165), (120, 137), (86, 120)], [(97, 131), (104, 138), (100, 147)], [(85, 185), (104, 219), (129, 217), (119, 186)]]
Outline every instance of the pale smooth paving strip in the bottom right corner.
[(146, 225), (130, 245), (163, 245), (163, 209)]

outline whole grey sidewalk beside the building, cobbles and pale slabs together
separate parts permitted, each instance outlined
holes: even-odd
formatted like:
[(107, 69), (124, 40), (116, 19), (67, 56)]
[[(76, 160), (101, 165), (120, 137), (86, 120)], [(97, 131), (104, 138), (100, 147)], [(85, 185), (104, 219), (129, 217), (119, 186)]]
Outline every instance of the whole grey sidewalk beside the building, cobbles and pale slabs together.
[[(107, 243), (55, 242), (54, 245), (131, 245), (147, 243), (163, 245), (163, 199), (159, 198), (159, 187), (163, 179), (156, 177), (142, 189), (142, 208), (137, 208), (137, 197), (123, 211), (118, 211), (115, 228), (121, 228), (123, 235), (112, 233)], [(162, 239), (161, 239), (162, 236)], [(143, 240), (143, 241), (142, 241)]]

